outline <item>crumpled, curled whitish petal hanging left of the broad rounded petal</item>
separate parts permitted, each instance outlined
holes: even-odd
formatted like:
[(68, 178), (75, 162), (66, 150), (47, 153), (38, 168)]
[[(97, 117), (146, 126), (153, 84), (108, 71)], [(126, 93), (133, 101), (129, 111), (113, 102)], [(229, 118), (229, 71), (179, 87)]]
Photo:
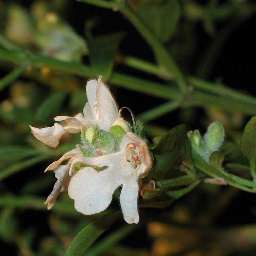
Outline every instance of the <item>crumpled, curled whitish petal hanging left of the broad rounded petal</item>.
[(60, 195), (60, 192), (67, 187), (67, 182), (69, 180), (68, 175), (68, 165), (60, 165), (55, 170), (55, 177), (58, 179), (54, 186), (52, 193), (47, 197), (44, 204), (47, 204), (47, 209), (50, 210), (55, 203), (57, 197)]

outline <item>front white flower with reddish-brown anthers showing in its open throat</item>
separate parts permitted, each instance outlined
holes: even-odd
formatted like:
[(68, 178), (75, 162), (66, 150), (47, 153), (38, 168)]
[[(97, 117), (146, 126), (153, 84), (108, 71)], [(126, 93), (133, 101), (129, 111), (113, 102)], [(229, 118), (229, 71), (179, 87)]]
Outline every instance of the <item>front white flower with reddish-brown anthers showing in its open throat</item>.
[(138, 179), (151, 166), (144, 140), (128, 132), (123, 137), (119, 152), (75, 158), (71, 163), (71, 172), (76, 163), (86, 165), (71, 177), (68, 186), (68, 195), (74, 199), (78, 212), (88, 215), (105, 210), (116, 188), (122, 185), (120, 204), (124, 220), (129, 224), (138, 223)]

